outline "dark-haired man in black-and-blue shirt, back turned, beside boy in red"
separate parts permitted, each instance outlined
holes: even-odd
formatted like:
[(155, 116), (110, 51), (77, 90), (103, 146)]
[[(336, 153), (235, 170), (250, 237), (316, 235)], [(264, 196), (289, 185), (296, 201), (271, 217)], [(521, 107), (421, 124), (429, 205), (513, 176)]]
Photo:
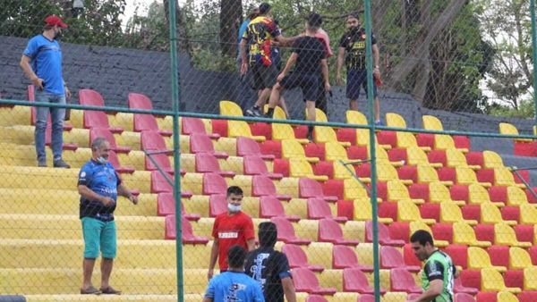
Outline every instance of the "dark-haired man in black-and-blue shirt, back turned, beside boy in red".
[(246, 257), (245, 272), (260, 282), (266, 301), (295, 302), (294, 284), (289, 272), (287, 256), (274, 250), (277, 228), (273, 222), (261, 222), (258, 237), (260, 248), (254, 249)]

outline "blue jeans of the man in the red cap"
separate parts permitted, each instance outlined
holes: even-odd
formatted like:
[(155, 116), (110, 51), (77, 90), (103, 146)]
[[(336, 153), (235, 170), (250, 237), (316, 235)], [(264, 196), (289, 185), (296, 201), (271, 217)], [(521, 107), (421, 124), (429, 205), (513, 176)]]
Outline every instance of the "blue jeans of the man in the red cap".
[[(50, 92), (36, 90), (36, 102), (65, 104), (65, 95), (58, 96)], [(64, 145), (64, 118), (65, 108), (36, 108), (36, 153), (38, 161), (45, 161), (47, 154), (45, 153), (45, 132), (47, 130), (47, 118), (50, 111), (52, 121), (52, 138), (50, 145), (54, 160), (62, 159), (62, 147)]]

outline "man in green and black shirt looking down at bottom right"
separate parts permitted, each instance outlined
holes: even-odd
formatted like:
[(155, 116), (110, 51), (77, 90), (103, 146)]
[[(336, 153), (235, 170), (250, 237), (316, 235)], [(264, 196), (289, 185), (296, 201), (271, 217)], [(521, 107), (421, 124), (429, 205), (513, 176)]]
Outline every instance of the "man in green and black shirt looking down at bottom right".
[(414, 255), (425, 262), (422, 270), (423, 293), (413, 302), (453, 302), (453, 287), (458, 272), (451, 257), (434, 247), (428, 231), (415, 231), (410, 242)]

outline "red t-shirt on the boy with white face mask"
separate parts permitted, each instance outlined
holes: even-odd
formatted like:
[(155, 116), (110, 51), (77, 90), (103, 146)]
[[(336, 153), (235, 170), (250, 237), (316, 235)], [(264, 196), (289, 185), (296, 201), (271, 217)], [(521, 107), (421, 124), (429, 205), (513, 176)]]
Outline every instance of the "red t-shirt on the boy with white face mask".
[(218, 266), (227, 269), (227, 250), (235, 244), (248, 250), (246, 240), (255, 238), (251, 217), (243, 212), (228, 215), (218, 214), (213, 224), (212, 235), (218, 240)]

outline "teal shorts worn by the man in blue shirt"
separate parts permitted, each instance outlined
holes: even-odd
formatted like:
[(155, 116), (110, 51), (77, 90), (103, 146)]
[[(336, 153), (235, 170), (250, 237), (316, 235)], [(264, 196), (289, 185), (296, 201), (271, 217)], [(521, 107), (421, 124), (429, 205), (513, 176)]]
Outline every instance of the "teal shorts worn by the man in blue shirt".
[(82, 233), (84, 235), (84, 258), (97, 258), (99, 250), (103, 258), (115, 258), (117, 253), (115, 221), (101, 222), (95, 218), (83, 217)]

